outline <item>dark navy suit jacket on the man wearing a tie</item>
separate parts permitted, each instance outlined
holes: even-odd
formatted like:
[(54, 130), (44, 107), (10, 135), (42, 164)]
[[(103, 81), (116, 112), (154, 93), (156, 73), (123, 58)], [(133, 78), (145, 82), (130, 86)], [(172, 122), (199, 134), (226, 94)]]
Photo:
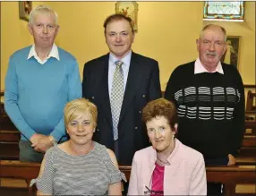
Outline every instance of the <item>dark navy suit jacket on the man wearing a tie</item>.
[[(114, 150), (113, 125), (108, 93), (109, 54), (84, 65), (82, 95), (98, 107), (98, 126), (93, 140)], [(149, 138), (142, 125), (142, 108), (161, 97), (158, 62), (132, 52), (118, 124), (120, 165), (132, 165), (135, 151), (149, 146)]]

